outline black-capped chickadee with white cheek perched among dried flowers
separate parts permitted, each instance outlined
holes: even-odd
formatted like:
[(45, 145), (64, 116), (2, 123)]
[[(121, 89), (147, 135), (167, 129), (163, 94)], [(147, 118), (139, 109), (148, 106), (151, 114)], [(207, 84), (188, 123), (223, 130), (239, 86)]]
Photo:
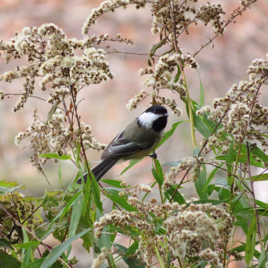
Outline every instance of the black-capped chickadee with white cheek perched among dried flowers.
[[(161, 141), (168, 122), (168, 111), (153, 105), (134, 119), (106, 147), (101, 162), (91, 169), (97, 181), (115, 164), (147, 156)], [(84, 174), (87, 180), (87, 173)], [(81, 184), (81, 178), (77, 180)]]

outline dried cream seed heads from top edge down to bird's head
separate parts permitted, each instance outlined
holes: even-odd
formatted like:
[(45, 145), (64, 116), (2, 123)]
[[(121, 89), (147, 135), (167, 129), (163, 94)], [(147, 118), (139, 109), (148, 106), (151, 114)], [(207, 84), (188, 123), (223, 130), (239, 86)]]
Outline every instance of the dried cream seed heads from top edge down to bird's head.
[[(105, 14), (109, 11), (115, 11), (116, 8), (123, 7), (124, 9), (127, 8), (129, 4), (133, 4), (136, 6), (137, 9), (140, 7), (144, 7), (150, 1), (141, 1), (141, 0), (109, 0), (104, 1), (98, 8), (95, 8), (90, 13), (87, 21), (85, 22), (82, 33), (88, 33), (89, 27), (96, 23), (96, 20), (102, 14)], [(181, 110), (176, 106), (175, 101), (169, 101), (166, 103), (164, 99), (161, 99), (159, 96), (159, 90), (166, 88), (170, 89), (173, 92), (180, 93), (181, 97), (187, 96), (187, 90), (184, 88), (184, 82), (181, 79), (179, 83), (172, 82), (172, 73), (174, 72), (175, 67), (179, 65), (180, 62), (183, 63), (184, 66), (187, 64), (191, 68), (198, 68), (197, 62), (193, 59), (191, 55), (182, 55), (180, 50), (177, 49), (172, 55), (174, 50), (174, 46), (177, 46), (176, 39), (178, 36), (181, 35), (184, 31), (188, 34), (188, 27), (190, 24), (197, 25), (199, 21), (202, 21), (204, 25), (211, 24), (214, 28), (215, 33), (223, 34), (225, 31), (225, 27), (232, 21), (232, 19), (241, 13), (241, 8), (239, 7), (233, 13), (231, 18), (228, 21), (222, 20), (222, 15), (225, 14), (222, 4), (220, 2), (217, 3), (207, 3), (206, 5), (201, 5), (199, 8), (196, 5), (189, 5), (189, 2), (197, 2), (197, 0), (187, 0), (180, 3), (179, 1), (174, 1), (170, 3), (166, 0), (157, 1), (152, 4), (152, 34), (159, 33), (160, 39), (162, 43), (159, 46), (162, 46), (165, 43), (168, 43), (171, 50), (168, 51), (165, 55), (162, 55), (159, 58), (159, 61), (155, 65), (154, 70), (149, 67), (145, 69), (140, 69), (139, 75), (148, 74), (149, 76), (146, 77), (142, 84), (145, 87), (153, 87), (152, 97), (158, 97), (158, 104), (167, 104), (169, 105), (173, 112), (178, 116), (181, 115)], [(248, 6), (255, 1), (247, 1), (246, 4), (242, 4), (244, 9), (248, 8)], [(160, 27), (161, 26), (161, 30)], [(176, 35), (176, 37), (174, 36)], [(165, 39), (162, 37), (165, 36)], [(166, 42), (163, 42), (166, 40)], [(173, 42), (174, 40), (174, 42)], [(155, 52), (155, 51), (154, 51)], [(150, 56), (154, 56), (154, 52), (150, 52)], [(149, 60), (150, 64), (150, 60)], [(174, 79), (173, 79), (174, 81)], [(176, 79), (178, 81), (178, 79)], [(147, 96), (147, 95), (146, 95)], [(131, 111), (138, 106), (138, 103), (144, 99), (143, 92), (140, 91), (137, 93), (134, 98), (132, 98), (129, 103), (126, 105), (126, 108)], [(155, 104), (155, 101), (153, 101)]]

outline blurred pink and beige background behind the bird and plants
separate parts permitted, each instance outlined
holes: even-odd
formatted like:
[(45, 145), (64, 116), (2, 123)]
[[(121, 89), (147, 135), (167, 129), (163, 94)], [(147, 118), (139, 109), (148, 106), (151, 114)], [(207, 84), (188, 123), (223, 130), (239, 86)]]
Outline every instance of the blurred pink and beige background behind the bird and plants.
[[(97, 7), (101, 1), (0, 1), (0, 39), (7, 40), (13, 36), (14, 31), (21, 31), (25, 26), (39, 26), (43, 23), (55, 23), (66, 33), (68, 38), (82, 38), (81, 27), (85, 22), (91, 9)], [(205, 4), (207, 1), (199, 1), (199, 5)], [(239, 5), (238, 0), (225, 0), (223, 7), (226, 11), (225, 18), (234, 8)], [(128, 51), (135, 53), (148, 53), (152, 44), (159, 41), (159, 36), (153, 36), (151, 29), (151, 6), (147, 4), (145, 9), (136, 11), (133, 6), (128, 6), (126, 10), (117, 9), (115, 13), (106, 13), (97, 20), (97, 24), (91, 26), (89, 35), (108, 33), (116, 35), (121, 33), (125, 38), (134, 40), (133, 46), (126, 46), (116, 42), (107, 42), (99, 47), (105, 48), (110, 45), (110, 51), (115, 48), (118, 51)], [(213, 98), (225, 95), (233, 83), (240, 80), (248, 80), (246, 74), (248, 66), (255, 58), (264, 58), (268, 52), (267, 43), (267, 22), (268, 22), (268, 3), (267, 1), (259, 1), (252, 5), (243, 16), (236, 18), (235, 24), (230, 24), (223, 37), (218, 36), (214, 40), (214, 49), (210, 44), (204, 48), (197, 56), (196, 60), (199, 64), (199, 73), (202, 79), (205, 105), (210, 104)], [(210, 25), (204, 27), (201, 23), (195, 27), (189, 28), (188, 36), (181, 35), (179, 45), (183, 54), (193, 54), (200, 48), (201, 44), (208, 42), (208, 37), (214, 36), (214, 31)], [(95, 47), (98, 47), (97, 45)], [(167, 49), (161, 48), (157, 51), (157, 55), (161, 55)], [(161, 53), (162, 52), (162, 53)], [(157, 60), (157, 58), (155, 58)], [(145, 99), (139, 106), (140, 108), (129, 113), (125, 104), (135, 95), (136, 92), (143, 89), (141, 85), (142, 77), (139, 77), (140, 68), (147, 67), (147, 56), (110, 54), (107, 58), (110, 63), (111, 70), (115, 73), (115, 78), (100, 85), (91, 85), (81, 92), (80, 98), (85, 100), (79, 105), (79, 113), (81, 121), (92, 126), (92, 131), (96, 139), (103, 143), (109, 143), (131, 120), (142, 113), (147, 105), (148, 100)], [(13, 70), (18, 65), (26, 64), (25, 60), (10, 61), (5, 65), (3, 59), (0, 58), (0, 73)], [(199, 102), (199, 77), (196, 70), (187, 68), (185, 70), (190, 96)], [(11, 84), (1, 82), (0, 90), (6, 93), (19, 93), (22, 89), (22, 80), (13, 81)], [(263, 98), (261, 103), (267, 105), (268, 94), (267, 88), (262, 87)], [(151, 89), (147, 90), (150, 93)], [(35, 95), (47, 98), (49, 91), (41, 92), (38, 83), (36, 84)], [(179, 95), (175, 95), (168, 90), (162, 91), (161, 96), (172, 96), (176, 99), (178, 105), (183, 109), (183, 118), (178, 119), (169, 113), (168, 126), (170, 129), (174, 122), (187, 119), (185, 107), (181, 102)], [(148, 97), (149, 98), (149, 97)], [(0, 102), (1, 125), (0, 125), (0, 179), (15, 180), (18, 184), (25, 184), (22, 190), (25, 195), (33, 195), (40, 197), (47, 188), (60, 188), (57, 170), (58, 165), (49, 162), (44, 167), (52, 187), (50, 187), (45, 178), (37, 173), (28, 163), (29, 150), (22, 150), (22, 145), (28, 144), (25, 141), (20, 147), (14, 144), (14, 137), (18, 132), (24, 131), (31, 123), (31, 113), (33, 107), (39, 108), (39, 116), (46, 118), (50, 109), (50, 104), (43, 101), (29, 98), (26, 106), (13, 114), (11, 108), (17, 101), (17, 96)], [(69, 103), (69, 102), (67, 102)], [(200, 141), (200, 136), (197, 136)], [(170, 161), (178, 161), (185, 155), (192, 155), (193, 148), (191, 142), (191, 134), (189, 124), (182, 123), (175, 131), (173, 136), (157, 150), (158, 159), (161, 164)], [(87, 151), (87, 158), (90, 161), (98, 161), (101, 152)], [(123, 166), (114, 167), (106, 178), (115, 178), (123, 170), (128, 163)], [(257, 174), (259, 170), (254, 170)], [(67, 161), (62, 164), (62, 180), (66, 187), (70, 180), (76, 176), (76, 167)], [(259, 174), (259, 173), (258, 173)], [(220, 173), (219, 175), (220, 176)], [(124, 173), (123, 178), (129, 184), (136, 182), (148, 184), (154, 180), (151, 174), (151, 159), (144, 159), (137, 164), (135, 168)], [(178, 178), (179, 179), (179, 178)], [(185, 199), (197, 197), (194, 185), (192, 183), (185, 184), (187, 189), (181, 192), (185, 195)], [(256, 198), (267, 202), (268, 186), (266, 182), (255, 183)], [(157, 193), (156, 193), (157, 194)], [(217, 196), (216, 196), (217, 197)], [(110, 209), (109, 202), (105, 203), (107, 210)], [(235, 239), (239, 240), (243, 233), (238, 233)], [(243, 237), (242, 239), (245, 239)], [(51, 246), (55, 245), (53, 238), (47, 238)], [(117, 243), (125, 243), (128, 241), (117, 240)], [(92, 254), (88, 255), (81, 246), (82, 242), (77, 240), (73, 243), (71, 255), (76, 255), (80, 262), (75, 267), (89, 267), (92, 264)], [(236, 246), (239, 243), (236, 244)], [(125, 267), (124, 263), (121, 266)], [(246, 267), (244, 262), (231, 263), (229, 267)]]

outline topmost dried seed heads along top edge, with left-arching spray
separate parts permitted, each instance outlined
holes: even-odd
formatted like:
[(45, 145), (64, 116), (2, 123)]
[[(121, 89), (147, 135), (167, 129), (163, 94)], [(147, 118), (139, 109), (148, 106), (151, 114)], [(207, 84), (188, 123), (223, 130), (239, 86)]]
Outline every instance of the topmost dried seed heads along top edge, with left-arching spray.
[[(90, 15), (87, 18), (87, 21), (84, 23), (82, 28), (82, 34), (88, 33), (89, 27), (96, 23), (96, 19), (102, 14), (114, 11), (118, 7), (123, 7), (126, 9), (127, 5), (134, 4), (136, 9), (144, 8), (146, 3), (149, 3), (148, 0), (108, 0), (101, 3), (98, 8), (92, 9)], [(189, 2), (197, 2), (197, 0), (189, 0)], [(216, 32), (223, 32), (222, 27), (225, 25), (224, 21), (221, 19), (221, 16), (225, 14), (222, 9), (221, 3), (207, 3), (202, 5), (199, 8), (196, 6), (188, 5), (188, 1), (180, 3), (179, 1), (174, 1), (173, 3), (173, 12), (176, 13), (176, 34), (180, 35), (181, 32), (186, 30), (188, 34), (188, 26), (191, 23), (197, 25), (198, 21), (201, 20), (204, 25), (207, 25), (209, 22)], [(166, 0), (157, 1), (152, 4), (152, 34), (160, 32), (159, 24), (167, 25), (167, 28), (170, 30), (170, 36), (172, 36), (172, 14), (170, 13), (170, 2)], [(172, 38), (171, 38), (172, 39)]]

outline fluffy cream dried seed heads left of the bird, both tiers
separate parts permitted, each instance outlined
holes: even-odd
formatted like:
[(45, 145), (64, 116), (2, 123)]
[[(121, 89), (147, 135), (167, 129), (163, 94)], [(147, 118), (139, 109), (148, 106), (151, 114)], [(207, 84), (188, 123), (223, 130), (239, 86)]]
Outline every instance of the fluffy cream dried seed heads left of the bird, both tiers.
[[(52, 91), (46, 100), (48, 103), (57, 106), (62, 102), (64, 106), (65, 113), (60, 110), (61, 108), (57, 110), (52, 108), (54, 114), (50, 115), (47, 122), (40, 120), (37, 109), (34, 109), (32, 125), (26, 132), (20, 132), (16, 136), (16, 145), (25, 137), (31, 136), (29, 147), (34, 149), (34, 154), (30, 157), (30, 161), (39, 172), (42, 172), (41, 166), (47, 159), (41, 160), (38, 155), (49, 152), (58, 152), (61, 155), (68, 151), (66, 147), (75, 148), (80, 136), (79, 131), (85, 150), (105, 148), (104, 144), (92, 136), (89, 125), (81, 123), (80, 129), (73, 128), (73, 118), (76, 116), (73, 103), (77, 105), (76, 98), (79, 91), (85, 86), (99, 84), (114, 76), (106, 60), (107, 53), (103, 49), (92, 47), (93, 43), (100, 44), (105, 41), (133, 44), (132, 39), (125, 39), (121, 34), (116, 37), (103, 34), (85, 37), (83, 40), (67, 39), (62, 29), (53, 23), (43, 24), (40, 27), (25, 27), (21, 33), (15, 32), (14, 37), (7, 42), (1, 41), (1, 56), (5, 58), (6, 63), (11, 58), (17, 59), (23, 55), (28, 59), (28, 66), (17, 67), (14, 71), (5, 72), (0, 76), (0, 80), (5, 82), (25, 78), (23, 90), (21, 94), (17, 94), (20, 97), (12, 109), (13, 112), (24, 107), (28, 97), (33, 95), (36, 80), (39, 80), (39, 86), (43, 91), (46, 91), (46, 88)], [(76, 55), (75, 50), (83, 50), (83, 55)], [(0, 91), (1, 99), (5, 95), (4, 91)], [(64, 103), (64, 99), (68, 97), (72, 100), (69, 110)], [(66, 119), (68, 125), (64, 123)]]

